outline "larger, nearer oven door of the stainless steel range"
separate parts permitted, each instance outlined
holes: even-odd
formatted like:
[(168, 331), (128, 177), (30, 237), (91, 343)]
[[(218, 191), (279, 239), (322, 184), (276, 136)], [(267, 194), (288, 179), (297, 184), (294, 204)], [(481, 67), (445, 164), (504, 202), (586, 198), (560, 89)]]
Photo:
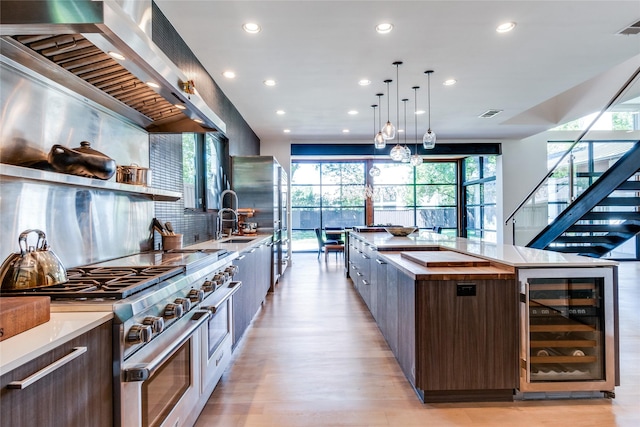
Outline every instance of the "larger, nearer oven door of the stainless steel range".
[(200, 337), (209, 316), (208, 311), (187, 313), (123, 363), (121, 426), (195, 421), (191, 418), (200, 396)]

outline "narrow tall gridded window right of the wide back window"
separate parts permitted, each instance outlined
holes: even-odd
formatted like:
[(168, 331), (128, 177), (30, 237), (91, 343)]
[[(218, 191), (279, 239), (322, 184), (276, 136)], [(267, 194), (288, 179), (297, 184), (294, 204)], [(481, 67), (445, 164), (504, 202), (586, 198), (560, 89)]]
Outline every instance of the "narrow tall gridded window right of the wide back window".
[(468, 239), (496, 242), (496, 156), (464, 160), (465, 233)]

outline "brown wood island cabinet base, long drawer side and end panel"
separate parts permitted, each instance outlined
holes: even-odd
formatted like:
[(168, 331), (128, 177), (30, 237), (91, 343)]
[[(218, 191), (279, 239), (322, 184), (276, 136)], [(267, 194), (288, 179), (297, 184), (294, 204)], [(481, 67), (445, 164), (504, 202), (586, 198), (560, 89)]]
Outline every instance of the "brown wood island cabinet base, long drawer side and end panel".
[(423, 280), (428, 274), (416, 280), (354, 238), (348, 262), (356, 290), (424, 401), (513, 399), (519, 385), (513, 274), (470, 274), (461, 267), (447, 280)]

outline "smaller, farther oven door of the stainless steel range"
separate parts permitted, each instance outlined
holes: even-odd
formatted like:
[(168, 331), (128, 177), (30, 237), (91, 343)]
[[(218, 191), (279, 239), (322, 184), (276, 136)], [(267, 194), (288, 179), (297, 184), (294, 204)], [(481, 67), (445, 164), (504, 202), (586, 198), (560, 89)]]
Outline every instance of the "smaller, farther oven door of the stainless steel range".
[(242, 282), (231, 282), (203, 302), (211, 312), (202, 331), (202, 395), (206, 400), (213, 392), (231, 361), (233, 328), (233, 294)]

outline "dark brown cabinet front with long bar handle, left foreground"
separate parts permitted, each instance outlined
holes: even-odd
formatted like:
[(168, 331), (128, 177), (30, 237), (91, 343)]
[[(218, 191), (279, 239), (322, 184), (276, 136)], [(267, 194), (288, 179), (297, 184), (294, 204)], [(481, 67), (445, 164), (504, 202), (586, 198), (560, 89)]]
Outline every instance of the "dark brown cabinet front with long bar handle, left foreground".
[[(74, 351), (79, 354), (75, 359), (31, 385), (22, 389), (7, 387), (11, 382), (23, 381), (52, 366)], [(106, 322), (2, 375), (0, 425), (113, 426), (111, 357), (111, 322)]]

